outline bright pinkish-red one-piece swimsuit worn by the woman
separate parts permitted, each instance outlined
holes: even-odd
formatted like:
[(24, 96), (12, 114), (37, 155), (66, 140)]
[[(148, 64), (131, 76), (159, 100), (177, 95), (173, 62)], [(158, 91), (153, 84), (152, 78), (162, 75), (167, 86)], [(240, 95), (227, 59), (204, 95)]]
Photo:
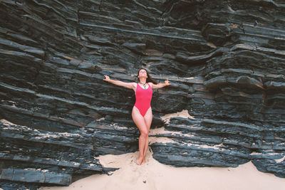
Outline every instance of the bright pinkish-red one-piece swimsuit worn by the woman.
[[(139, 86), (139, 87), (138, 87)], [(145, 116), (148, 108), (150, 108), (150, 102), (152, 99), (152, 88), (148, 84), (147, 89), (143, 89), (140, 85), (137, 85), (135, 90), (135, 107), (138, 108), (142, 117)]]

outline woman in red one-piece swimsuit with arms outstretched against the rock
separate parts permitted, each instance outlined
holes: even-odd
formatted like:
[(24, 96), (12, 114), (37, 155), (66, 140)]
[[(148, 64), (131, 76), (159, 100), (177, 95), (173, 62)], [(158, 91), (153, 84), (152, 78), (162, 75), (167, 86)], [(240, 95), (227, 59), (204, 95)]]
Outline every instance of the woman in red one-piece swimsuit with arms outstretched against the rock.
[(145, 163), (145, 155), (148, 149), (148, 132), (150, 132), (150, 125), (152, 122), (152, 109), (150, 107), (150, 102), (152, 99), (152, 89), (162, 88), (170, 85), (168, 80), (165, 83), (158, 83), (152, 80), (147, 70), (140, 68), (138, 70), (138, 80), (139, 83), (124, 83), (120, 80), (110, 80), (108, 75), (105, 76), (105, 81), (113, 83), (114, 85), (123, 86), (125, 88), (130, 88), (135, 91), (135, 105), (132, 110), (132, 117), (135, 125), (137, 125), (140, 130), (140, 137), (138, 140), (138, 147), (140, 154), (138, 156), (137, 164), (140, 165)]

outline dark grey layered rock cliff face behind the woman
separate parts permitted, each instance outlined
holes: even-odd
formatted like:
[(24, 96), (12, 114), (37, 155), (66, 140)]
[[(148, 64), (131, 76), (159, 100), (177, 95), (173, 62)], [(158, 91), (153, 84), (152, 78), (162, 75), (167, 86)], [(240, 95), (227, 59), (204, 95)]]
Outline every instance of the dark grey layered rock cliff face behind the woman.
[(284, 1), (0, 4), (3, 189), (67, 186), (114, 170), (98, 155), (137, 151), (135, 95), (103, 75), (141, 67), (172, 83), (152, 98), (157, 161), (285, 177)]

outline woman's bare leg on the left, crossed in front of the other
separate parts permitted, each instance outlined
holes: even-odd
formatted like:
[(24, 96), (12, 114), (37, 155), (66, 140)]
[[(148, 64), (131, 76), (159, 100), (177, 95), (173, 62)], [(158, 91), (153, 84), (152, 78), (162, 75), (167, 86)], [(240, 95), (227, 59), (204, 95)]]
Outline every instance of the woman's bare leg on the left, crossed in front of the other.
[(142, 117), (142, 115), (140, 115), (140, 111), (138, 110), (137, 107), (133, 107), (132, 117), (133, 121), (135, 122), (135, 125), (137, 125), (138, 129), (140, 130), (140, 137), (138, 139), (138, 149), (140, 155), (137, 161), (137, 164), (140, 165), (142, 164), (143, 160), (143, 152), (145, 149), (145, 141), (148, 137), (148, 130), (147, 130), (147, 125), (145, 124), (145, 119), (144, 117)]

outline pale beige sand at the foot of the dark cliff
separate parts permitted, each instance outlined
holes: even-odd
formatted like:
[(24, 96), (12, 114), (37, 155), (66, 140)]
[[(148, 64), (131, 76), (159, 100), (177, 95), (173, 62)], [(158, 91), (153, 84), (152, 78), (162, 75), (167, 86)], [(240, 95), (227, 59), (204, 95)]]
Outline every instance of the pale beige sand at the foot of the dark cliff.
[(75, 181), (68, 187), (41, 189), (285, 189), (285, 179), (260, 172), (252, 162), (237, 168), (172, 167), (160, 164), (147, 152), (147, 163), (138, 166), (138, 152), (100, 156), (104, 167), (119, 167), (108, 176), (95, 174)]

